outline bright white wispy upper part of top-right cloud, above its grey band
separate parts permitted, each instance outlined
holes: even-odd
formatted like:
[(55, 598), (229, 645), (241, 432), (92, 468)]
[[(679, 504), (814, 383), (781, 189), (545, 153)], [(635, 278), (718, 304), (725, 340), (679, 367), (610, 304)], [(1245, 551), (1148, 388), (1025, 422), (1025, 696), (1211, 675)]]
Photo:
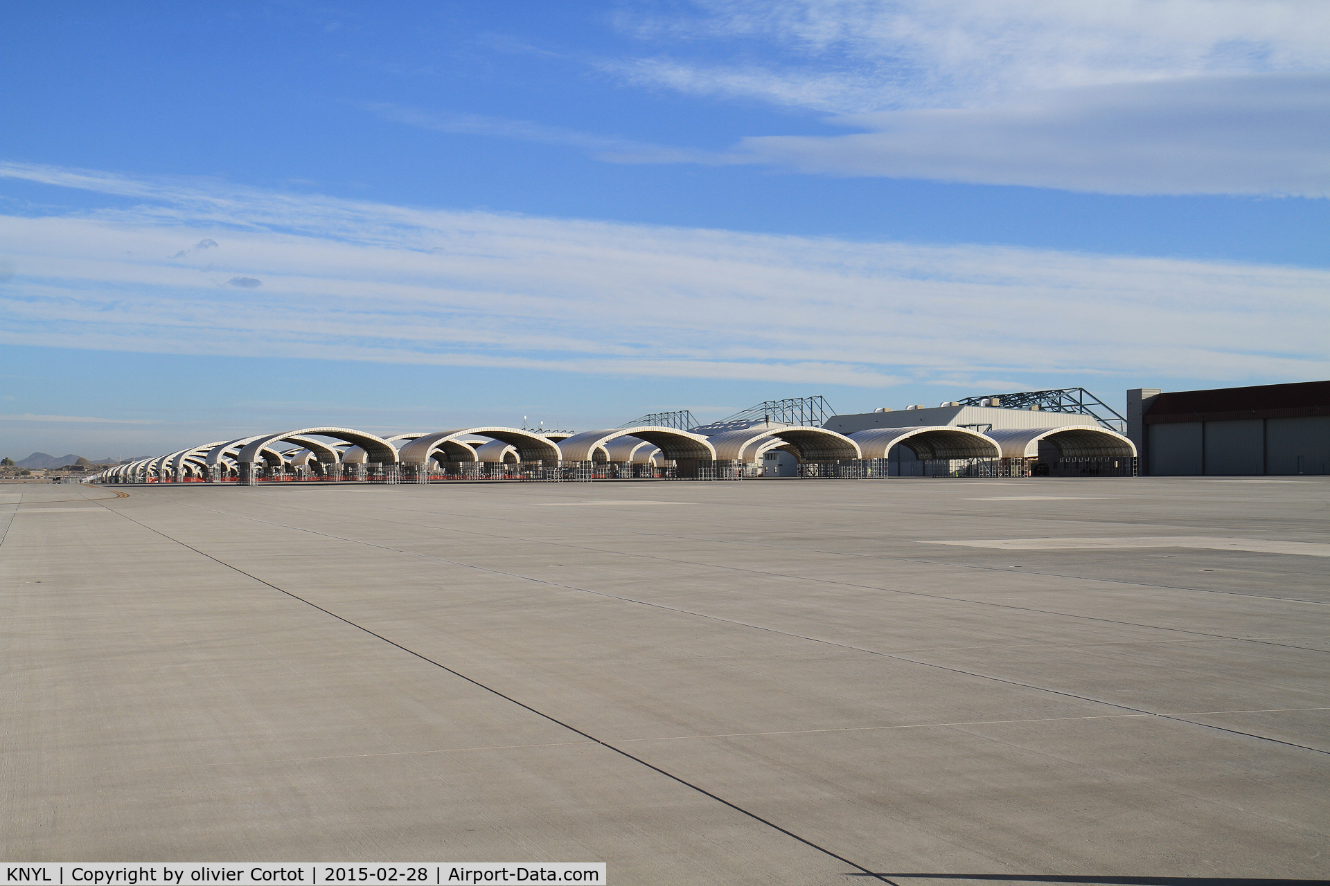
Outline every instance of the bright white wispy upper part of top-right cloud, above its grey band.
[[(657, 43), (741, 60), (609, 62), (642, 82), (837, 113), (974, 106), (1036, 89), (1326, 68), (1321, 0), (694, 0), (625, 12)], [(757, 45), (766, 62), (743, 52)], [(724, 54), (724, 53), (721, 53)], [(815, 85), (810, 89), (810, 85)]]

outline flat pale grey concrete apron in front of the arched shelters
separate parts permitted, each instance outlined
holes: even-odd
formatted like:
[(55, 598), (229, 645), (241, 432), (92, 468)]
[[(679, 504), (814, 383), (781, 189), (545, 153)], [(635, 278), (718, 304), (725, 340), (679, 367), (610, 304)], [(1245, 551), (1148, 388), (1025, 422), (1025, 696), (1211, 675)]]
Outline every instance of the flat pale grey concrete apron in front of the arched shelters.
[[(705, 859), (724, 882), (911, 883), (891, 871), (1055, 854), (1314, 881), (1325, 559), (914, 543), (1323, 538), (1318, 486), (1287, 491), (1306, 513), (1141, 486), (1080, 529), (1020, 502), (994, 529), (955, 486), (653, 487), (673, 507), (621, 486), (55, 487), (0, 514), (32, 579), (0, 596), (0, 646), (40, 715), (15, 719), (8, 821), (45, 857), (145, 834), (500, 857), (572, 834), (616, 882)], [(616, 507), (532, 506), (583, 501)]]

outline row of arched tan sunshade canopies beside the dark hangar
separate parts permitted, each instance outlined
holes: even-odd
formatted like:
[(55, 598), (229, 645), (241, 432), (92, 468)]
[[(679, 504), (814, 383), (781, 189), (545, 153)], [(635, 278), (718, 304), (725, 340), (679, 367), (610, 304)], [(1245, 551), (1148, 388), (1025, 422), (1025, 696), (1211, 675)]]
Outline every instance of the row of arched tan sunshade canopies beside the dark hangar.
[[(481, 440), (477, 440), (481, 438)], [(874, 428), (841, 434), (826, 428), (757, 425), (706, 436), (674, 428), (637, 426), (541, 434), (520, 428), (459, 428), (434, 433), (378, 437), (351, 428), (302, 428), (274, 434), (222, 440), (144, 458), (102, 472), (101, 480), (137, 477), (206, 477), (213, 473), (253, 474), (254, 468), (326, 465), (428, 465), (430, 462), (628, 462), (701, 464), (753, 462), (783, 450), (799, 461), (829, 462), (888, 458), (894, 446), (919, 460), (1032, 458), (1040, 442), (1061, 457), (1134, 457), (1130, 440), (1095, 426), (1019, 428), (987, 434), (951, 425)]]

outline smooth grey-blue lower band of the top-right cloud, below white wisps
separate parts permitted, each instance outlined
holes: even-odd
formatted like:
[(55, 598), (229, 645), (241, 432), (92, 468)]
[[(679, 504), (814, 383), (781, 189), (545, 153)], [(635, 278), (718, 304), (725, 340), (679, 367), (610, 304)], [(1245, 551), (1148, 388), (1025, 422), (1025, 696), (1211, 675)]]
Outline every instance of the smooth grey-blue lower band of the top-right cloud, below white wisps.
[[(850, 135), (745, 138), (692, 162), (1104, 194), (1330, 195), (1330, 74), (1196, 77), (1032, 93), (1003, 108), (891, 110)], [(618, 162), (680, 162), (672, 151)]]

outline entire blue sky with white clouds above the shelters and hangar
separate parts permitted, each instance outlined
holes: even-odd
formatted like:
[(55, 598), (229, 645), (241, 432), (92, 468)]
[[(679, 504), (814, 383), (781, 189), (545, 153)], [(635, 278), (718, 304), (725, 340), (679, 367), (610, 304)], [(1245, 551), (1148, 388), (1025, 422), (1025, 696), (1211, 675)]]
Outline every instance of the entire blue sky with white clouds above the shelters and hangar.
[(20, 4), (0, 454), (1330, 377), (1323, 0)]

